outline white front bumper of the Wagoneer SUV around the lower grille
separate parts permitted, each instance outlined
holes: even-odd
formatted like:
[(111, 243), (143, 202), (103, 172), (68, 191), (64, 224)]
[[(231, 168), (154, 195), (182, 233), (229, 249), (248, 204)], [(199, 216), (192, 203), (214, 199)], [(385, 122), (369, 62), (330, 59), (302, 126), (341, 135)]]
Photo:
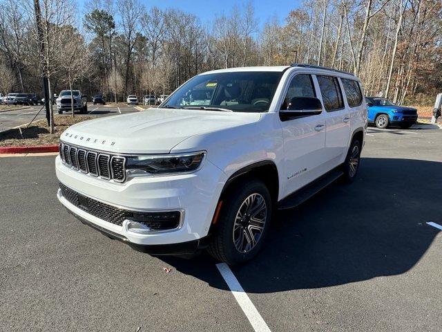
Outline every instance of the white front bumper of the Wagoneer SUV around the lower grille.
[(140, 234), (128, 230), (127, 220), (122, 225), (109, 223), (77, 208), (60, 191), (57, 193), (60, 203), (82, 221), (110, 232), (122, 241), (140, 246), (186, 243), (206, 237), (222, 187), (227, 181), (227, 176), (207, 159), (202, 168), (193, 174), (135, 177), (125, 183), (113, 183), (81, 174), (63, 165), (59, 156), (55, 160), (55, 168), (61, 183), (97, 201), (126, 210), (184, 211), (180, 228)]

